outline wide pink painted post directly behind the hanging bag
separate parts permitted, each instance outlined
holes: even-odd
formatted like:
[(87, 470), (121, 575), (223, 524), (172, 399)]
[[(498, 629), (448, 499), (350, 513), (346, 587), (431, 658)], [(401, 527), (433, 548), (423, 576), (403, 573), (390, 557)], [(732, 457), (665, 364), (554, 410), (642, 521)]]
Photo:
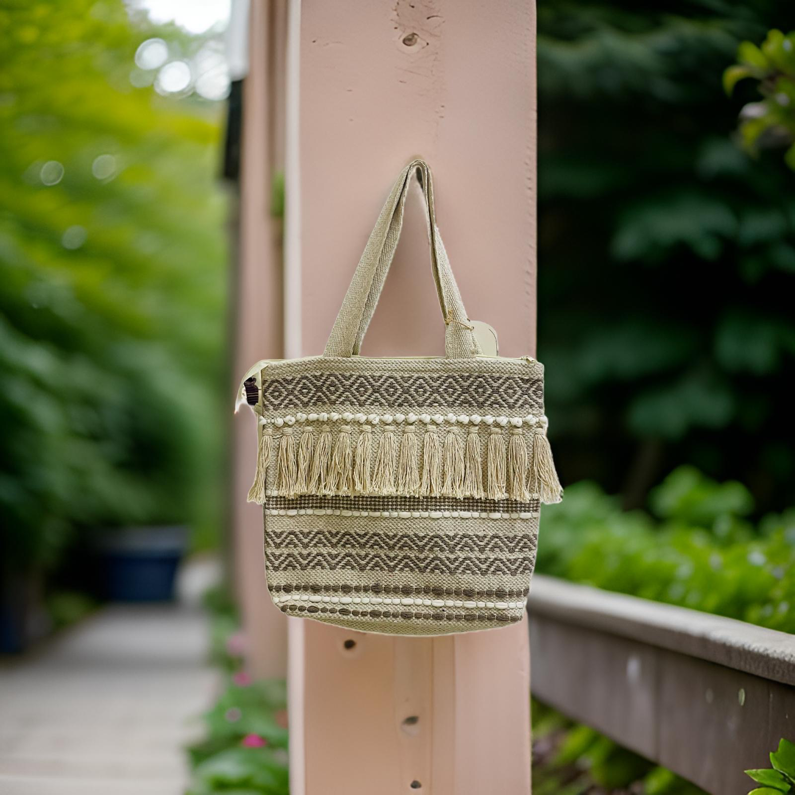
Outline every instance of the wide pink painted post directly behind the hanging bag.
[[(288, 350), (323, 350), (394, 176), (421, 155), (469, 315), (503, 355), (532, 354), (533, 2), (293, 0), (291, 14)], [(409, 209), (363, 353), (439, 354), (443, 339)], [(293, 795), (529, 793), (524, 623), (428, 639), (291, 619), (289, 642)]]

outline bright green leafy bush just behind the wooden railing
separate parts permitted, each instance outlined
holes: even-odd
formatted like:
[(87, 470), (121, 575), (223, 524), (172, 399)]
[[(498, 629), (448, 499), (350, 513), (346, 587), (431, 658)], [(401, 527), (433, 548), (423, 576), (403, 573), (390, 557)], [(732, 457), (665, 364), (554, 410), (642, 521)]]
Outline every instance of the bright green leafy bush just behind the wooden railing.
[(754, 526), (750, 493), (680, 467), (652, 513), (622, 511), (594, 483), (545, 507), (537, 570), (567, 580), (795, 632), (795, 510)]

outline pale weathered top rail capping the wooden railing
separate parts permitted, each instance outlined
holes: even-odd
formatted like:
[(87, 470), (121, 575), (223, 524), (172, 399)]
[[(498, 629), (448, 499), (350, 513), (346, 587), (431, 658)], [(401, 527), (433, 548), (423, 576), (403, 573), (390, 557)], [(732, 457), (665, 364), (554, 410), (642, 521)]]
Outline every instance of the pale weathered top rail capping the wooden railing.
[(795, 635), (535, 575), (528, 610), (795, 685)]

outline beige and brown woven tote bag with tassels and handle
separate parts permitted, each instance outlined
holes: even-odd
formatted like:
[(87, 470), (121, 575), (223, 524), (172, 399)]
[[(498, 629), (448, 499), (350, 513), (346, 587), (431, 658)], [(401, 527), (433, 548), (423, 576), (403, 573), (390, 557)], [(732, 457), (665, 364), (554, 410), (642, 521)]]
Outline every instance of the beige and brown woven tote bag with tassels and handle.
[[(409, 185), (425, 199), (444, 357), (359, 355)], [(436, 229), (431, 173), (409, 164), (370, 235), (322, 356), (262, 361), (250, 502), (265, 514), (273, 602), (365, 632), (437, 635), (522, 618), (541, 502), (560, 500), (543, 367), (481, 354)]]

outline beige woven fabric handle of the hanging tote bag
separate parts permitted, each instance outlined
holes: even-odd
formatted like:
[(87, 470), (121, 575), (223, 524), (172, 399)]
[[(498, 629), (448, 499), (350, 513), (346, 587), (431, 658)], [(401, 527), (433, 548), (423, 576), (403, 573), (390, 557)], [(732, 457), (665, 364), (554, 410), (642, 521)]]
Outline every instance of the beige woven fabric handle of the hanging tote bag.
[(433, 281), (436, 282), (436, 293), (447, 327), (444, 332), (444, 354), (448, 359), (471, 359), (481, 352), (436, 228), (431, 169), (424, 160), (417, 159), (401, 171), (378, 216), (339, 309), (324, 356), (347, 357), (359, 353), (400, 239), (405, 200), (413, 176), (417, 176), (422, 188), (425, 223), (431, 243)]

